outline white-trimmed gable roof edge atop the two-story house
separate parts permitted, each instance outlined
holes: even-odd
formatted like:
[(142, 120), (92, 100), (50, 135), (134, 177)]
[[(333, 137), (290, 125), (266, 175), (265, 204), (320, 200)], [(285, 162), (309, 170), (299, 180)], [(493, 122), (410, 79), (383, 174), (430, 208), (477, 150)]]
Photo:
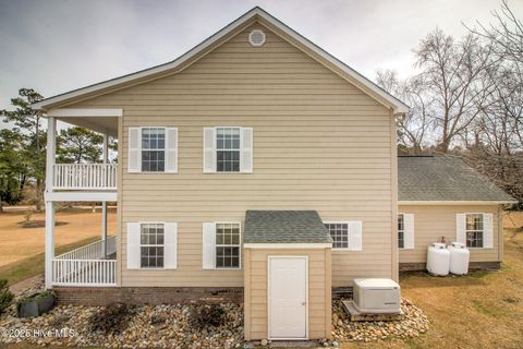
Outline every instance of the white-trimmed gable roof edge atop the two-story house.
[(78, 89), (73, 89), (71, 92), (60, 94), (53, 97), (49, 97), (34, 104), (33, 108), (40, 110), (49, 110), (56, 107), (74, 103), (75, 100), (90, 98), (104, 93), (121, 89), (133, 84), (139, 84), (145, 81), (155, 80), (165, 74), (175, 73), (183, 70), (193, 60), (197, 60), (206, 52), (223, 44), (231, 35), (239, 32), (239, 29), (242, 29), (254, 22), (259, 22), (260, 24), (270, 26), (276, 29), (275, 32), (280, 32), (280, 34), (287, 35), (290, 38), (294, 39), (296, 44), (300, 45), (300, 49), (313, 56), (313, 58), (315, 58), (316, 60), (324, 62), (324, 64), (331, 65), (327, 67), (331, 68), (331, 70), (348, 80), (350, 83), (354, 84), (363, 92), (375, 97), (375, 99), (380, 101), (382, 105), (391, 108), (394, 113), (405, 113), (409, 110), (409, 107), (401, 100), (393, 97), (385, 89), (373, 83), (370, 80), (366, 79), (365, 76), (363, 76), (339, 59), (335, 58), (317, 45), (313, 44), (299, 33), (296, 33), (294, 29), (287, 26), (284, 23), (280, 22), (278, 19), (273, 17), (258, 7), (246, 12), (245, 14), (223, 27), (221, 31), (217, 32), (215, 35), (210, 36), (209, 38), (207, 38), (206, 40), (195, 46), (193, 49), (180, 56), (173, 61), (145, 69), (132, 74), (82, 87)]

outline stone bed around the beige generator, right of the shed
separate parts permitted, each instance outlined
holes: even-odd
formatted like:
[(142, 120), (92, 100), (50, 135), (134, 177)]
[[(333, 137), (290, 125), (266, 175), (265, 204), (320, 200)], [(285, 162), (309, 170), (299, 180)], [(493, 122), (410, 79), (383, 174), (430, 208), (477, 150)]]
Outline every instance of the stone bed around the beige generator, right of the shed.
[[(428, 318), (408, 299), (401, 300), (405, 314), (401, 321), (351, 322), (341, 301), (332, 302), (333, 341), (374, 341), (387, 338), (413, 338), (428, 330)], [(336, 345), (336, 344), (335, 344)]]

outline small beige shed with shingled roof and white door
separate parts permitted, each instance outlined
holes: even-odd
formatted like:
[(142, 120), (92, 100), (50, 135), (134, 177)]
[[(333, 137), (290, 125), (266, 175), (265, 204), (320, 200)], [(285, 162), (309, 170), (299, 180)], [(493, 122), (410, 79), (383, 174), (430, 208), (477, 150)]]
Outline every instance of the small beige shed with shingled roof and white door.
[(331, 246), (316, 210), (247, 210), (245, 339), (330, 337)]

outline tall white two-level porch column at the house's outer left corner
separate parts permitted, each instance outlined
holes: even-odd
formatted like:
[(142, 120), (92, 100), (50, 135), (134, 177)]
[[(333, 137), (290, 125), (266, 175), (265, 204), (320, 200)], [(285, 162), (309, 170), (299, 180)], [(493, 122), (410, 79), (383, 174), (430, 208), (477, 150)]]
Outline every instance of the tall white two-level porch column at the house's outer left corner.
[(54, 258), (54, 204), (48, 200), (52, 192), (53, 167), (56, 157), (57, 120), (52, 117), (47, 123), (46, 153), (46, 289), (52, 287), (52, 260)]

